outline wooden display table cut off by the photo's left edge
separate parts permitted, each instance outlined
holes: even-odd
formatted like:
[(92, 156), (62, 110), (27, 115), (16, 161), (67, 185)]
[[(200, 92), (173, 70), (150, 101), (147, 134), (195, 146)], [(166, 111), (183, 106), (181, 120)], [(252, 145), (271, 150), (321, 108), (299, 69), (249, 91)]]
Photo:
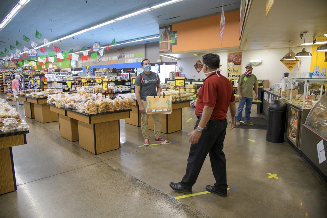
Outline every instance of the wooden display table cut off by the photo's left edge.
[(17, 190), (11, 147), (25, 145), (26, 133), (29, 131), (0, 132), (0, 195)]

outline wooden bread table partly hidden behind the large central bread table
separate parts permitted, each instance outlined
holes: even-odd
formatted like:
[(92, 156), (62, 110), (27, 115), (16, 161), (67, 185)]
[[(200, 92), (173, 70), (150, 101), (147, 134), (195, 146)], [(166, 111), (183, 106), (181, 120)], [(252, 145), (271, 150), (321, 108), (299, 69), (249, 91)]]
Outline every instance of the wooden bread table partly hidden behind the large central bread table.
[(50, 111), (58, 114), (60, 136), (71, 142), (78, 141), (77, 120), (67, 117), (67, 111), (64, 108), (58, 108), (53, 104), (48, 105), (50, 107)]

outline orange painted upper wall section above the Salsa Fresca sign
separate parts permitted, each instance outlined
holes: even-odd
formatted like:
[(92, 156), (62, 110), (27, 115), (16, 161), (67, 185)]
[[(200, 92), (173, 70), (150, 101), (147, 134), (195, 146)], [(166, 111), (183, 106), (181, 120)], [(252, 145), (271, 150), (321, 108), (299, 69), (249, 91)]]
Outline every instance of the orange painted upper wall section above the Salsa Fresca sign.
[(177, 45), (172, 52), (235, 47), (240, 45), (239, 11), (225, 13), (225, 32), (223, 45), (220, 43), (219, 24), (221, 15), (172, 24), (172, 31), (177, 30)]

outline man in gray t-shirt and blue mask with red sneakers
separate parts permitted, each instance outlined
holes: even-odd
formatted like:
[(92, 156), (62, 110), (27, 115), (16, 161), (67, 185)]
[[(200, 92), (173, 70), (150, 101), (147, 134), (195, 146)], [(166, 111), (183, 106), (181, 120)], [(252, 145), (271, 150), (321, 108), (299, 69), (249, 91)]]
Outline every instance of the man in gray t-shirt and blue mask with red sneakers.
[[(140, 73), (135, 79), (135, 95), (137, 102), (139, 104), (139, 109), (141, 112), (141, 128), (144, 137), (144, 146), (149, 146), (149, 114), (146, 113), (146, 96), (158, 96), (161, 94), (160, 79), (157, 73), (151, 72), (151, 63), (148, 59), (144, 59), (141, 63), (143, 72)], [(167, 143), (160, 137), (161, 132), (161, 119), (160, 114), (152, 114), (153, 124), (154, 124), (154, 136), (155, 142)]]

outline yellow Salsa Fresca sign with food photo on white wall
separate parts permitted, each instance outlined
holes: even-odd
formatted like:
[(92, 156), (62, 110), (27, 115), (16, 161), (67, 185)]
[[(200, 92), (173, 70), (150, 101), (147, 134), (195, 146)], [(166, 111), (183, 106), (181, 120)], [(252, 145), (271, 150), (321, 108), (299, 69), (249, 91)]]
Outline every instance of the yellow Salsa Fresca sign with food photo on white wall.
[(242, 74), (242, 52), (227, 53), (227, 78), (238, 79)]

